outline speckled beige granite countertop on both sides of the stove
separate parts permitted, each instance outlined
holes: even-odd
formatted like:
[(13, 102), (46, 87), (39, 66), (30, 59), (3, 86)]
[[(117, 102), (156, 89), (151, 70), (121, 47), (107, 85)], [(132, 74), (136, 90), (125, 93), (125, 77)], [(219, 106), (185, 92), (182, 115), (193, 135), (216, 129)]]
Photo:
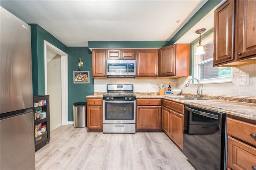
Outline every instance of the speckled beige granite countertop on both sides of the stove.
[[(86, 96), (87, 98), (102, 98), (104, 92), (97, 92), (94, 95)], [(160, 98), (167, 99), (174, 102), (179, 102), (181, 104), (189, 104), (192, 106), (202, 107), (205, 109), (210, 109), (213, 111), (218, 111), (220, 113), (226, 113), (228, 115), (234, 115), (238, 117), (243, 117), (246, 119), (256, 121), (256, 98), (241, 98), (234, 96), (214, 96), (206, 95), (202, 98), (207, 98), (208, 100), (181, 100), (171, 98), (175, 95), (164, 95), (160, 96), (157, 93), (134, 93), (136, 98)], [(193, 96), (192, 94), (182, 94), (185, 96)], [(193, 96), (194, 97), (194, 96)]]

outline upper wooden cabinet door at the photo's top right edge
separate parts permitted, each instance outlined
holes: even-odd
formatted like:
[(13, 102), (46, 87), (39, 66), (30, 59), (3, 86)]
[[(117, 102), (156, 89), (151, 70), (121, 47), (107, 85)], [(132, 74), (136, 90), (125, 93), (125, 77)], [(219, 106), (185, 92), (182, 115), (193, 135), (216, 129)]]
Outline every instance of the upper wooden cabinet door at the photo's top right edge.
[(239, 0), (236, 53), (238, 60), (256, 56), (256, 1)]

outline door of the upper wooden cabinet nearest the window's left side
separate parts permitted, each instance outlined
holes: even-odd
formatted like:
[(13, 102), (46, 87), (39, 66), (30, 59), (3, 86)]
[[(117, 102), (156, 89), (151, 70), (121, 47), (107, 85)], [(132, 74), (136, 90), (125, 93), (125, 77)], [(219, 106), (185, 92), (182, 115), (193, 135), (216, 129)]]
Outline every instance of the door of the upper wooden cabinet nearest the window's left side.
[(174, 76), (175, 69), (175, 45), (163, 47), (159, 52), (159, 76)]

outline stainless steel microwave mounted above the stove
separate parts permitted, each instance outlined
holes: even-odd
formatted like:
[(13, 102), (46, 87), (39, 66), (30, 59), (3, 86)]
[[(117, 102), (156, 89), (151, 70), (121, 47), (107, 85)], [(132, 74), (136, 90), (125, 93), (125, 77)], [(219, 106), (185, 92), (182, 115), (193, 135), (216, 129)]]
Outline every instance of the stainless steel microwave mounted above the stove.
[(107, 77), (135, 77), (135, 60), (107, 60)]

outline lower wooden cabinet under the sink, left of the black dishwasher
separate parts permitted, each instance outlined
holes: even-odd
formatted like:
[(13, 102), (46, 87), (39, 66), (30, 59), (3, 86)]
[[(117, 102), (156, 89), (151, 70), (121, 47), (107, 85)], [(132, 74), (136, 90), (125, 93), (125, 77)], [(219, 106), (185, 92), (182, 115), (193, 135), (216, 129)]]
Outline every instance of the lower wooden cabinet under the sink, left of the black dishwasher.
[(184, 105), (162, 100), (162, 129), (181, 150), (183, 149), (183, 121)]

